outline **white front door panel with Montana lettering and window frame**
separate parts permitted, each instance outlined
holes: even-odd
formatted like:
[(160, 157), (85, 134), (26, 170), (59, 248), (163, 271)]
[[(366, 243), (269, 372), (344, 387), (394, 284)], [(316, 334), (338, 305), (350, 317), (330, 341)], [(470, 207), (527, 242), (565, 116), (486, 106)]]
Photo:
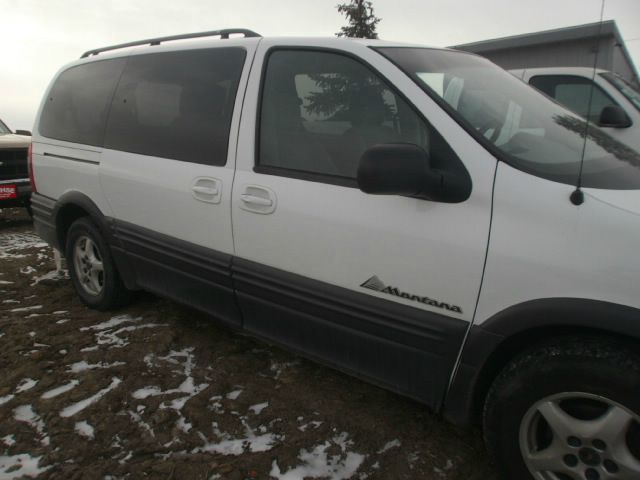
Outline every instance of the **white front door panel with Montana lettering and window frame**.
[[(256, 64), (261, 64), (269, 42), (261, 43)], [(232, 196), (236, 255), (470, 321), (489, 235), (496, 160), (381, 55), (355, 43), (352, 49), (398, 87), (443, 135), (472, 178), (470, 198), (445, 204), (367, 195), (357, 188), (256, 173), (253, 112), (257, 111), (261, 69), (254, 69), (245, 97), (245, 112), (249, 113), (242, 118)], [(260, 215), (246, 208), (242, 199), (246, 185), (274, 192), (277, 205), (271, 214)], [(409, 297), (427, 297), (427, 301), (362, 286), (374, 276), (385, 286)], [(430, 305), (429, 299), (457, 306), (461, 313), (433, 302)]]

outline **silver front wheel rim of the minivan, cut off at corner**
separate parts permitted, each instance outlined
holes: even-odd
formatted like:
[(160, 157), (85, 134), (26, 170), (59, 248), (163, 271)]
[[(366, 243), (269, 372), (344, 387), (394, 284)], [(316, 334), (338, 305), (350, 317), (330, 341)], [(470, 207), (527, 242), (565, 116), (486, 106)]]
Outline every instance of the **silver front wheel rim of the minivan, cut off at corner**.
[(640, 418), (608, 398), (562, 393), (533, 405), (520, 451), (536, 480), (640, 478)]

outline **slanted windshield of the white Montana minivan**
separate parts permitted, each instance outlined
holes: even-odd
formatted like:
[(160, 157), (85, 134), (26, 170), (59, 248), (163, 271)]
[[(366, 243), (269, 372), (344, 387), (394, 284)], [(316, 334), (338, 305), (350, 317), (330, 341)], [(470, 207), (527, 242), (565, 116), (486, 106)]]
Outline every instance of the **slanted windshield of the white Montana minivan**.
[[(549, 180), (640, 188), (640, 154), (490, 61), (429, 48), (377, 49), (498, 158)], [(585, 142), (585, 136), (587, 141)]]

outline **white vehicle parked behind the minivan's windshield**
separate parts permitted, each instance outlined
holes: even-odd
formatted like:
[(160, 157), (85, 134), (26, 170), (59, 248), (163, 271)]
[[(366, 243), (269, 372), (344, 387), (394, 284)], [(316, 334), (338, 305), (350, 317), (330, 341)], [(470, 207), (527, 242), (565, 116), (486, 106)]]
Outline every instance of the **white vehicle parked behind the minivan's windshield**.
[[(640, 151), (640, 91), (620, 75), (587, 67), (510, 70), (609, 135)], [(589, 96), (593, 85), (591, 109)]]

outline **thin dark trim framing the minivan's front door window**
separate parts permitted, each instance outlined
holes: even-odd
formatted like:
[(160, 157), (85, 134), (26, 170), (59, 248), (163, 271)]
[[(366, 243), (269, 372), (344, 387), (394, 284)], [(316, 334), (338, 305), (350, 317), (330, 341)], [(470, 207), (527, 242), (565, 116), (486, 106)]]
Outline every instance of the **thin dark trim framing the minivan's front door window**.
[[(377, 68), (371, 65), (369, 62), (363, 60), (358, 55), (340, 50), (337, 48), (329, 48), (329, 47), (315, 47), (315, 46), (296, 46), (296, 45), (274, 45), (269, 47), (269, 49), (265, 52), (263, 61), (262, 61), (262, 69), (260, 72), (260, 88), (258, 90), (258, 106), (256, 111), (256, 128), (255, 128), (255, 139), (254, 139), (254, 157), (253, 157), (253, 171), (255, 173), (260, 173), (264, 175), (276, 175), (279, 177), (287, 177), (287, 178), (295, 178), (298, 180), (306, 180), (310, 182), (316, 183), (326, 183), (329, 185), (337, 185), (340, 187), (349, 187), (349, 188), (359, 188), (358, 181), (355, 178), (344, 177), (340, 175), (331, 175), (327, 173), (317, 173), (317, 172), (308, 172), (306, 170), (294, 170), (290, 168), (283, 167), (273, 167), (270, 165), (261, 165), (260, 164), (260, 133), (262, 129), (262, 104), (264, 98), (264, 85), (266, 80), (267, 68), (269, 66), (269, 58), (275, 52), (279, 51), (293, 51), (293, 52), (320, 52), (320, 53), (333, 53), (335, 55), (341, 55), (343, 57), (347, 57), (351, 60), (356, 61), (364, 68), (378, 76), (378, 78), (386, 85), (386, 87), (395, 95), (397, 95), (402, 101), (404, 101), (407, 106), (413, 111), (413, 113), (422, 121), (424, 124), (435, 131), (438, 135), (442, 137), (445, 143), (449, 146), (453, 154), (455, 155), (455, 159), (452, 161), (460, 162), (460, 165), (466, 171), (469, 178), (471, 178), (471, 174), (467, 169), (467, 166), (460, 159), (460, 156), (456, 153), (456, 151), (451, 147), (449, 142), (445, 139), (445, 137), (429, 122), (425, 116), (422, 114), (420, 109), (418, 109), (413, 102), (411, 102), (407, 96), (402, 93), (389, 79), (383, 75)], [(384, 55), (383, 55), (384, 57)], [(386, 58), (386, 57), (384, 57)], [(469, 190), (469, 196), (471, 195), (471, 190), (473, 189), (473, 185)]]

